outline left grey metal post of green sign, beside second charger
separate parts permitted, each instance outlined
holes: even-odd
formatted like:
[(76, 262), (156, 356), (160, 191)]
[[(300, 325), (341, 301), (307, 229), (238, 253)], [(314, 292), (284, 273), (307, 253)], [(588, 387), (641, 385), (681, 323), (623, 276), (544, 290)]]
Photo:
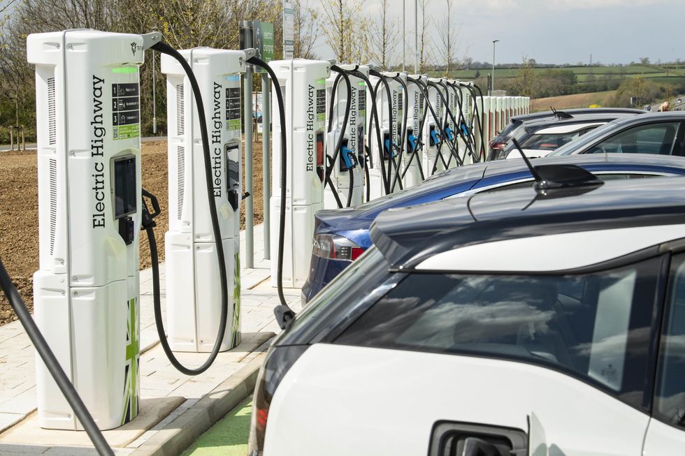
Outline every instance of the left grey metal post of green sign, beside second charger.
[[(243, 21), (245, 49), (252, 47), (252, 21)], [(243, 116), (245, 117), (245, 267), (254, 267), (254, 200), (252, 199), (252, 65), (243, 78)]]

